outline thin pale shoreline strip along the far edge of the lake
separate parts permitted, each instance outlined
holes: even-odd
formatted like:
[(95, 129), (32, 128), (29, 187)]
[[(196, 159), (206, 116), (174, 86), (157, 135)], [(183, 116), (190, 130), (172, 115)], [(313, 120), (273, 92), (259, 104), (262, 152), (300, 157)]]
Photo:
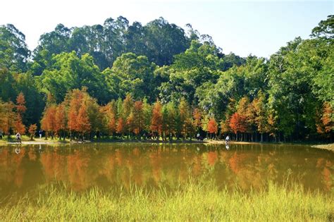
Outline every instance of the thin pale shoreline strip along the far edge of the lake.
[[(85, 141), (61, 141), (61, 140), (34, 140), (34, 141), (23, 141), (22, 143), (18, 142), (6, 142), (5, 140), (0, 140), (1, 145), (13, 145), (13, 144), (85, 144), (85, 143), (122, 143), (122, 142), (133, 142), (133, 143), (163, 143), (163, 144), (225, 144), (225, 140), (173, 140), (173, 141), (162, 141), (162, 140), (85, 140)], [(317, 149), (327, 149), (334, 152), (334, 143), (331, 144), (314, 144), (314, 143), (303, 143), (303, 142), (242, 142), (242, 141), (231, 141), (230, 144), (307, 144), (313, 148)]]

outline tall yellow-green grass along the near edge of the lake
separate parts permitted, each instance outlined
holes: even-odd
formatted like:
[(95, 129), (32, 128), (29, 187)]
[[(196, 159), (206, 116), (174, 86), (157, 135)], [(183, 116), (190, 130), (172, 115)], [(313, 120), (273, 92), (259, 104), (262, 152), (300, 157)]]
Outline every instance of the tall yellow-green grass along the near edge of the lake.
[(263, 191), (217, 190), (189, 183), (175, 192), (83, 194), (48, 187), (38, 197), (0, 207), (1, 221), (333, 221), (333, 194), (305, 192), (269, 183)]

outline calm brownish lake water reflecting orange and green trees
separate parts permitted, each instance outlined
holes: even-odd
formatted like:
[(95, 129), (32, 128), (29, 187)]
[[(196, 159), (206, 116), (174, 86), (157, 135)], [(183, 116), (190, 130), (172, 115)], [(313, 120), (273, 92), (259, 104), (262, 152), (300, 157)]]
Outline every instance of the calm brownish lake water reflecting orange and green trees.
[(290, 144), (92, 143), (0, 147), (0, 196), (47, 185), (68, 190), (173, 189), (189, 178), (218, 187), (261, 189), (271, 180), (331, 192), (334, 152)]

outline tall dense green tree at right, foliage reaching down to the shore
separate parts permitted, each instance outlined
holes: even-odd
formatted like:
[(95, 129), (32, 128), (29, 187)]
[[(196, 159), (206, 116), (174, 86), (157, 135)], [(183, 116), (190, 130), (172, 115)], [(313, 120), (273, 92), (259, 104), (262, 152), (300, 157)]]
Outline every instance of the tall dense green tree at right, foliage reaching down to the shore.
[(303, 45), (300, 38), (289, 42), (272, 56), (269, 65), (269, 104), (277, 111), (278, 128), (285, 137), (294, 132), (299, 137), (305, 126), (315, 128), (314, 121), (307, 119), (307, 113), (315, 113), (317, 106), (310, 93), (315, 67), (307, 64), (309, 50), (304, 51)]

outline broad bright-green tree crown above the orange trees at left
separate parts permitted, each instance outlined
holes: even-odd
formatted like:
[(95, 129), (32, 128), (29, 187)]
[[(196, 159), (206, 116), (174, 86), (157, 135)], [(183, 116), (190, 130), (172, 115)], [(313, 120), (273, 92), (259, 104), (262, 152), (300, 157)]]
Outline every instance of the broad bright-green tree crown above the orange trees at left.
[(37, 77), (39, 89), (51, 93), (56, 101), (62, 101), (68, 90), (87, 87), (87, 92), (100, 102), (109, 100), (104, 75), (94, 64), (92, 56), (81, 58), (75, 52), (62, 53), (53, 57), (53, 65)]

